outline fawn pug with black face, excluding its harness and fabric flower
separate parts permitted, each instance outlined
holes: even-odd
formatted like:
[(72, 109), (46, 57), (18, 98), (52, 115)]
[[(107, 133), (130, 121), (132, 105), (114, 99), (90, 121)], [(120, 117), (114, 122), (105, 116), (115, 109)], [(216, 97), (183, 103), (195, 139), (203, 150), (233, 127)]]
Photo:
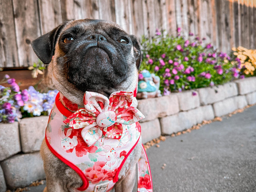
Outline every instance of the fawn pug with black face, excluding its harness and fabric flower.
[[(78, 106), (84, 105), (85, 91), (109, 97), (113, 92), (133, 92), (137, 87), (142, 59), (140, 45), (135, 36), (114, 22), (66, 21), (31, 45), (38, 58), (48, 64), (52, 88)], [(137, 105), (133, 97), (131, 106)], [(119, 172), (116, 192), (133, 190), (141, 148), (140, 139)], [(81, 177), (49, 150), (45, 139), (41, 155), (47, 180), (45, 192), (76, 191), (82, 186)]]

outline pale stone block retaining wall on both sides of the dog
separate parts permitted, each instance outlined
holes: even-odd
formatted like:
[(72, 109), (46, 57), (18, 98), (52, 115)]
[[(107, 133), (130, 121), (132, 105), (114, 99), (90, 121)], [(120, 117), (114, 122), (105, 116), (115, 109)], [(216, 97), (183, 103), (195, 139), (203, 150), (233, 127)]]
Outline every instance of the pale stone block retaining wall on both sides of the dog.
[[(256, 77), (229, 82), (218, 87), (197, 89), (158, 98), (138, 100), (145, 115), (142, 141), (170, 135), (256, 103)], [(21, 119), (20, 123), (0, 123), (0, 192), (29, 185), (45, 178), (39, 154), (48, 117)]]

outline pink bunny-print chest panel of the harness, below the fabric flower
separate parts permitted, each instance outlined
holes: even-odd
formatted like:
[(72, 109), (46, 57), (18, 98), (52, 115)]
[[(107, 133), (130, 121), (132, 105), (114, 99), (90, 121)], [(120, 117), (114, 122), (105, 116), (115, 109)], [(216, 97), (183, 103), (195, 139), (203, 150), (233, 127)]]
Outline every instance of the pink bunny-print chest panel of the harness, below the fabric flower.
[[(139, 123), (123, 125), (123, 134), (119, 140), (102, 136), (94, 145), (88, 147), (81, 136), (82, 129), (70, 129), (63, 123), (65, 119), (58, 107), (54, 106), (46, 128), (49, 149), (74, 169), (84, 184), (89, 184), (88, 191), (94, 191), (98, 184), (107, 186), (107, 189), (112, 188), (118, 180), (124, 161), (139, 141)], [(96, 132), (97, 130), (92, 131), (91, 137)]]

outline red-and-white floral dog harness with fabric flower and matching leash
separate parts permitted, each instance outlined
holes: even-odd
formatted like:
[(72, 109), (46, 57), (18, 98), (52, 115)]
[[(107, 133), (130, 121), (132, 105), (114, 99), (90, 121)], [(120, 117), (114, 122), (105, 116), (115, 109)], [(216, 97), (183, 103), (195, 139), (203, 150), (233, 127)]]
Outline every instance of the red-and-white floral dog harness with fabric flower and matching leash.
[[(83, 185), (75, 191), (110, 191), (129, 154), (141, 139), (143, 114), (132, 106), (132, 92), (109, 98), (86, 91), (84, 107), (57, 94), (46, 128), (52, 153), (78, 173)], [(69, 108), (70, 110), (68, 110)], [(152, 191), (148, 158), (142, 145), (138, 161), (138, 191)]]

